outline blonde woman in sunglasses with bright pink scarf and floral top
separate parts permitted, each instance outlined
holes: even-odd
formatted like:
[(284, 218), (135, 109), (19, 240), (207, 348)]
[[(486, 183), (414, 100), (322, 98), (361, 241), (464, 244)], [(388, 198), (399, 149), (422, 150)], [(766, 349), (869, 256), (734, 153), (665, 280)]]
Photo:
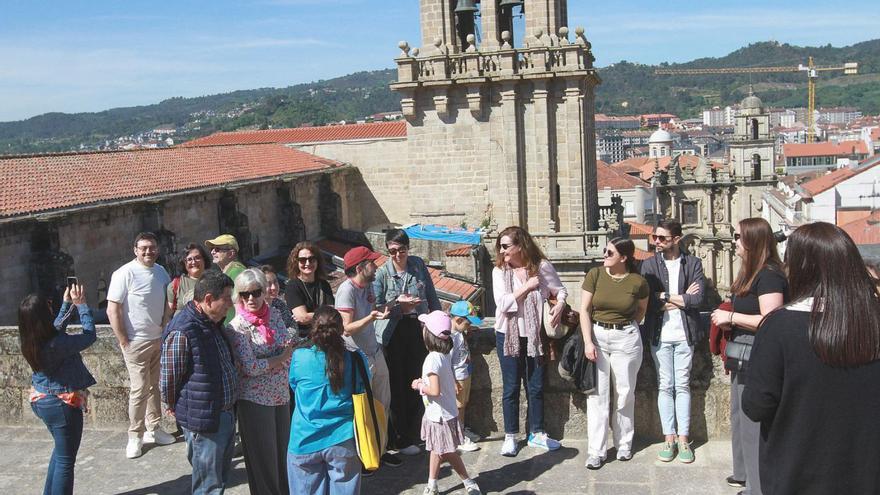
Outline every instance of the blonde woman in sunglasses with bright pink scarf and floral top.
[(266, 302), (269, 284), (251, 268), (235, 278), (235, 318), (227, 332), (238, 365), (236, 405), (252, 494), (287, 493), (290, 392), (287, 373), (295, 332)]

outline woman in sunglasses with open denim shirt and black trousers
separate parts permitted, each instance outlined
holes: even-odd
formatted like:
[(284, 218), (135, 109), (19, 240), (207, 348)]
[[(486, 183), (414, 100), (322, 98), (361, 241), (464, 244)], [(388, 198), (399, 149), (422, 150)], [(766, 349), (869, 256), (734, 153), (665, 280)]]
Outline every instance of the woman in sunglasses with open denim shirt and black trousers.
[(409, 236), (401, 229), (385, 233), (389, 261), (376, 270), (373, 293), (376, 304), (391, 309), (387, 320), (373, 322), (376, 337), (385, 346), (385, 361), (391, 378), (391, 444), (404, 455), (421, 452), (422, 397), (410, 387), (413, 376), (422, 372), (428, 355), (422, 339), (419, 315), (440, 310), (440, 299), (428, 267), (409, 254)]

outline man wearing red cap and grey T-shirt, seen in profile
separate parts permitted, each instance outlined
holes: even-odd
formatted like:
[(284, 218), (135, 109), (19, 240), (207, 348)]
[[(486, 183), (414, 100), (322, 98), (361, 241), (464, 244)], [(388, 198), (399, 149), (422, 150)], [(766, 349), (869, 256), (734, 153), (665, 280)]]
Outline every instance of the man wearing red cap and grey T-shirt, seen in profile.
[[(376, 278), (375, 260), (379, 257), (379, 254), (363, 246), (351, 248), (345, 253), (343, 264), (348, 279), (336, 291), (336, 309), (342, 315), (346, 342), (367, 356), (373, 397), (387, 411), (391, 406), (391, 382), (385, 355), (373, 328), (374, 321), (388, 318), (390, 314), (388, 307), (375, 306), (373, 279)], [(397, 456), (387, 453), (382, 456), (382, 462), (392, 467), (401, 464)]]

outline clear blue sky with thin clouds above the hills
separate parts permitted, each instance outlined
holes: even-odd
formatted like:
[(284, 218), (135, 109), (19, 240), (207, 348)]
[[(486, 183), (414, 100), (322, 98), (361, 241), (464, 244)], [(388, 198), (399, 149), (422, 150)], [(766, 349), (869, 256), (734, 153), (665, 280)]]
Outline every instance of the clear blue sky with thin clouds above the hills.
[[(720, 57), (758, 41), (847, 46), (876, 0), (569, 1), (599, 67)], [(419, 46), (418, 0), (0, 0), (0, 122), (394, 66)], [(574, 31), (574, 29), (572, 29)]]

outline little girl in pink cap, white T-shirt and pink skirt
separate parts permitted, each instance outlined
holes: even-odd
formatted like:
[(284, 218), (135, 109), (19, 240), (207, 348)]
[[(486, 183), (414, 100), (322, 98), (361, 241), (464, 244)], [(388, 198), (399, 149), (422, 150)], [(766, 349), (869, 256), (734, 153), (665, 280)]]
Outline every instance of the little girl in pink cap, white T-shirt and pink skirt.
[(464, 482), (467, 495), (480, 495), (480, 487), (470, 479), (456, 448), (462, 444), (464, 431), (458, 421), (455, 403), (455, 375), (452, 371), (452, 321), (443, 311), (420, 315), (422, 338), (428, 357), (422, 365), (422, 377), (412, 382), (413, 390), (422, 394), (425, 415), (422, 417), (422, 440), (431, 452), (428, 464), (428, 486), (425, 495), (436, 495), (437, 475), (443, 461), (452, 465)]

